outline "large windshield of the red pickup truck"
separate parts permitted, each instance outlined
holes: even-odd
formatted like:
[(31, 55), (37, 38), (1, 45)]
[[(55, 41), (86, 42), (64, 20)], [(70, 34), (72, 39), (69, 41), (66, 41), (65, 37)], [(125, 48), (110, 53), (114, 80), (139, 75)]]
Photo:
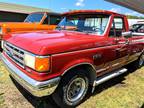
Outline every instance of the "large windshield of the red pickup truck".
[(58, 24), (57, 29), (103, 34), (108, 20), (108, 15), (67, 16)]

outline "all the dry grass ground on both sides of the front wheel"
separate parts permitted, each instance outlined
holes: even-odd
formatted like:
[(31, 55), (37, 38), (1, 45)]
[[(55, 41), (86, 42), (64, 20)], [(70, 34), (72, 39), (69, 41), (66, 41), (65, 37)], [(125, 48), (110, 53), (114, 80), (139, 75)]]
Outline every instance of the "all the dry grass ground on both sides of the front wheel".
[[(28, 95), (27, 95), (28, 96)], [(11, 82), (8, 72), (0, 62), (0, 108), (34, 108), (37, 101), (30, 96), (23, 96)], [(51, 100), (51, 98), (49, 99)], [(39, 108), (57, 108), (49, 100)], [(40, 103), (38, 103), (40, 104)], [(50, 107), (53, 106), (53, 107)], [(100, 86), (95, 93), (78, 106), (78, 108), (144, 108), (144, 67), (128, 72)]]

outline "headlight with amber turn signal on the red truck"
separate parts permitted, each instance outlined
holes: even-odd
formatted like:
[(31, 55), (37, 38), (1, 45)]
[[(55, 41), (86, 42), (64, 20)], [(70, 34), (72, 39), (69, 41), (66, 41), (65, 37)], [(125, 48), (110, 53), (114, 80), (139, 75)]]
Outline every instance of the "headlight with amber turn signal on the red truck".
[(35, 56), (31, 54), (25, 54), (24, 57), (25, 65), (38, 71), (38, 72), (46, 72), (50, 69), (50, 58)]

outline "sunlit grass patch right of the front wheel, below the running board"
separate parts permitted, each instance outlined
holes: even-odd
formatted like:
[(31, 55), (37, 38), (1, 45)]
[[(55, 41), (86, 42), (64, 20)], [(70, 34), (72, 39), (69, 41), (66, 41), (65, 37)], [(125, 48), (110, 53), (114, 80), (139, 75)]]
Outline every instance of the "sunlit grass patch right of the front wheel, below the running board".
[[(116, 82), (108, 87), (105, 84)], [(144, 68), (112, 79), (79, 108), (144, 108)], [(88, 107), (89, 106), (89, 107)]]

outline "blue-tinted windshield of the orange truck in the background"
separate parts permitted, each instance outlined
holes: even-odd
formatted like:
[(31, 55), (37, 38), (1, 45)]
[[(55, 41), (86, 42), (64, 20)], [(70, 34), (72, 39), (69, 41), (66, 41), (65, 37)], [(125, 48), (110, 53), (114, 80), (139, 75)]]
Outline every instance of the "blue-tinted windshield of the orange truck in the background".
[(24, 22), (40, 22), (43, 16), (43, 13), (33, 13), (28, 15)]

